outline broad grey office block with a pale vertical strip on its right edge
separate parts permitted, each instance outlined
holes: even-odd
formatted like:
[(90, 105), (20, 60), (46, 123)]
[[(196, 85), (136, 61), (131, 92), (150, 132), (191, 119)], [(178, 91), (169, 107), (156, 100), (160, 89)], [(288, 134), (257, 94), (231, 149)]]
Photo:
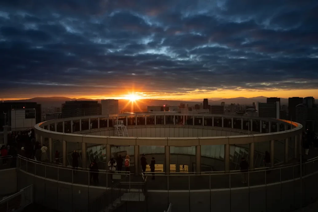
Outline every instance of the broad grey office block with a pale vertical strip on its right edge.
[(258, 112), (259, 117), (274, 118), (274, 119), (280, 118), (280, 103), (279, 102), (271, 102), (271, 103), (256, 102), (256, 110)]

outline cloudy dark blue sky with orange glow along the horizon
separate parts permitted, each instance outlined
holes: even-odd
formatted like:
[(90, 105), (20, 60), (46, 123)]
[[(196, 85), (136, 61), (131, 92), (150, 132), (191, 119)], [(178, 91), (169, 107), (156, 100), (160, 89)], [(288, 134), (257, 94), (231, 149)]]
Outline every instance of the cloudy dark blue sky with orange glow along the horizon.
[(318, 98), (316, 0), (2, 0), (0, 98)]

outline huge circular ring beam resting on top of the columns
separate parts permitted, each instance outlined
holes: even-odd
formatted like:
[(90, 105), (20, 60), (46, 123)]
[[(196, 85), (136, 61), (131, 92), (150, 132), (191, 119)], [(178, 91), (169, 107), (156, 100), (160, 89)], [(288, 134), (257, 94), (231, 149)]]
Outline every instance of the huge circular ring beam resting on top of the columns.
[[(52, 124), (56, 126), (56, 123), (62, 122), (65, 123), (66, 121), (79, 121), (79, 120), (98, 120), (100, 123), (101, 119), (106, 119), (107, 123), (109, 120), (120, 120), (121, 118), (128, 117), (127, 114), (118, 114), (118, 115), (97, 115), (97, 116), (85, 116), (85, 117), (73, 117), (73, 118), (65, 118), (59, 120), (50, 120), (41, 122), (35, 125), (35, 133), (52, 139), (58, 140), (66, 140), (68, 142), (82, 142), (82, 143), (100, 143), (100, 144), (110, 144), (110, 145), (154, 145), (154, 146), (197, 146), (197, 145), (216, 145), (216, 144), (247, 144), (247, 143), (255, 143), (255, 142), (262, 142), (262, 141), (269, 141), (269, 140), (280, 140), (286, 139), (289, 137), (293, 137), (295, 135), (299, 135), (302, 130), (302, 125), (296, 122), (290, 122), (286, 120), (277, 120), (277, 119), (270, 119), (270, 118), (262, 118), (262, 117), (248, 117), (248, 116), (231, 116), (231, 115), (214, 115), (214, 114), (182, 114), (177, 113), (175, 115), (171, 114), (162, 114), (162, 113), (141, 113), (135, 115), (135, 120), (137, 117), (144, 117), (144, 116), (162, 116), (163, 119), (166, 119), (166, 116), (178, 116), (178, 117), (186, 117), (191, 116), (199, 117), (198, 120), (202, 120), (201, 125), (204, 125), (206, 119), (212, 120), (212, 126), (214, 125), (214, 119), (220, 119), (222, 122), (222, 126), (224, 127), (224, 119), (229, 120), (231, 119), (231, 127), (234, 119), (241, 120), (241, 128), (244, 128), (242, 125), (243, 120), (247, 120), (246, 123), (251, 121), (251, 125), (253, 126), (253, 120), (259, 121), (258, 123), (265, 123), (267, 122), (268, 127), (272, 122), (277, 123), (276, 126), (283, 125), (291, 125), (291, 129), (280, 131), (280, 127), (277, 127), (280, 132), (273, 132), (273, 133), (261, 133), (261, 134), (253, 134), (253, 135), (240, 135), (240, 136), (220, 136), (220, 137), (183, 137), (183, 138), (149, 138), (149, 137), (115, 137), (115, 136), (94, 136), (94, 135), (82, 135), (82, 134), (72, 134), (72, 133), (61, 133), (61, 132), (53, 132), (50, 131), (48, 126)], [(148, 118), (149, 119), (149, 118)], [(185, 118), (184, 118), (185, 119)], [(127, 118), (126, 118), (127, 120)], [(145, 120), (143, 118), (143, 120)], [(137, 122), (135, 122), (137, 123)], [(145, 121), (146, 123), (146, 121)], [(210, 123), (210, 122), (209, 122)], [(244, 122), (243, 122), (244, 123)], [(126, 123), (127, 124), (127, 123)], [(185, 123), (183, 123), (185, 124)], [(193, 123), (195, 125), (195, 121)], [(99, 124), (98, 124), (99, 125)], [(107, 124), (108, 126), (109, 124)], [(229, 124), (227, 124), (229, 125)], [(45, 127), (46, 126), (46, 127)], [(64, 124), (63, 124), (64, 126)], [(44, 129), (47, 128), (47, 129)], [(57, 128), (57, 127), (55, 127)], [(261, 129), (261, 127), (259, 128)]]

